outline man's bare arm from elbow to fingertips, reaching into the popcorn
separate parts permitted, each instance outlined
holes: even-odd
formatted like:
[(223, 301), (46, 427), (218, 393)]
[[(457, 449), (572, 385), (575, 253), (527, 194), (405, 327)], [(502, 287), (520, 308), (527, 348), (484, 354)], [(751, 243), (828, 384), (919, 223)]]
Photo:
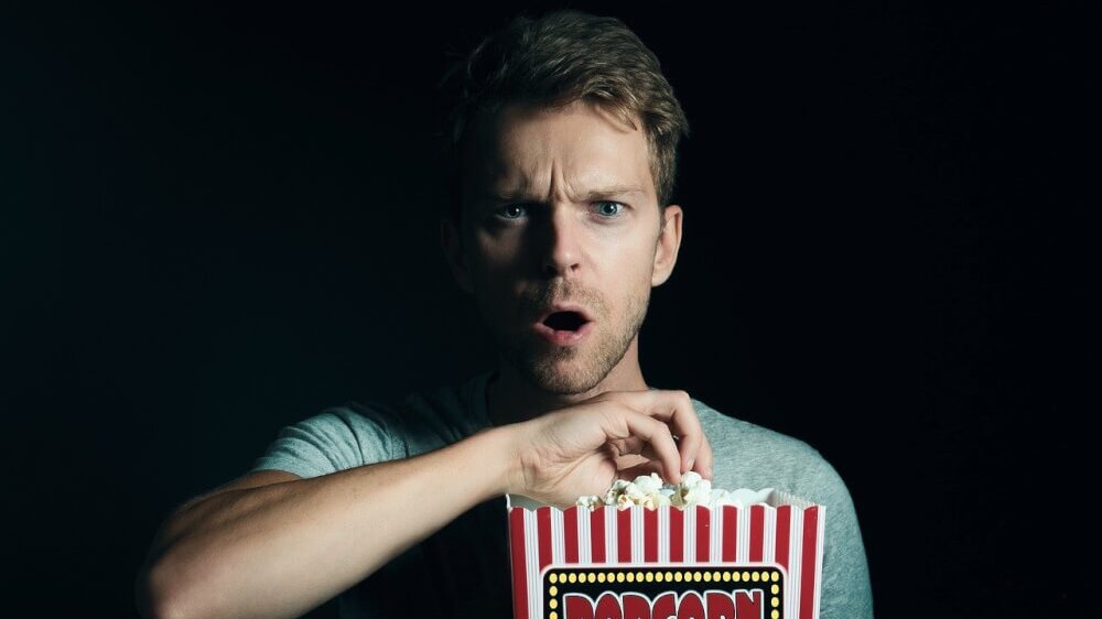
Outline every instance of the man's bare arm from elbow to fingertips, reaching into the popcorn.
[[(672, 437), (681, 437), (678, 446)], [(711, 477), (688, 394), (605, 393), (413, 458), (300, 479), (248, 475), (176, 510), (137, 597), (147, 617), (298, 617), (506, 492), (569, 504), (617, 477)], [(432, 509), (408, 509), (432, 496)]]

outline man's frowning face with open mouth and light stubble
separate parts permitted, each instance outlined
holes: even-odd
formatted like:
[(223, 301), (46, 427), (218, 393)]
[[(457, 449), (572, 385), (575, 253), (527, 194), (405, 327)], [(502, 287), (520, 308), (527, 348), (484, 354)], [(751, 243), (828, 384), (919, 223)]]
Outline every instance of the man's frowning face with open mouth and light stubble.
[[(677, 243), (672, 259), (660, 251), (644, 132), (584, 102), (510, 106), (482, 123), (472, 146), (461, 285), (529, 382), (588, 391), (624, 359), (651, 286), (676, 259)], [(555, 304), (579, 312), (547, 318)]]

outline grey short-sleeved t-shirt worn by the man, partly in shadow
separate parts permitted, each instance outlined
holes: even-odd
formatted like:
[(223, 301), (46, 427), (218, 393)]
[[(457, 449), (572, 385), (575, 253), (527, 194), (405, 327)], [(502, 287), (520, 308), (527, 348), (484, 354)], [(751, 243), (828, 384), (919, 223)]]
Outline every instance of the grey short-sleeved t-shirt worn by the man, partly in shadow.
[[(310, 478), (439, 449), (493, 425), (486, 408), (493, 374), (409, 395), (398, 406), (370, 402), (327, 410), (283, 428), (252, 470)], [(695, 399), (693, 406), (715, 455), (714, 487), (777, 488), (827, 506), (821, 619), (871, 618), (861, 530), (833, 467), (802, 441), (728, 417)], [(342, 594), (341, 616), (511, 617), (506, 526), (504, 497), (475, 507)], [(425, 593), (412, 596), (417, 590)]]

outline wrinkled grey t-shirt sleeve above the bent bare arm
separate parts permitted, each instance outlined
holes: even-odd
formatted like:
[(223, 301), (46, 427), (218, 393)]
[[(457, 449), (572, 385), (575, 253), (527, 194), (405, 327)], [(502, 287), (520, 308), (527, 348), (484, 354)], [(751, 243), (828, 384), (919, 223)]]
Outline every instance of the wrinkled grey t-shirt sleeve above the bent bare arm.
[(329, 409), (280, 431), (249, 473), (284, 470), (302, 478), (395, 459), (401, 437), (381, 413)]

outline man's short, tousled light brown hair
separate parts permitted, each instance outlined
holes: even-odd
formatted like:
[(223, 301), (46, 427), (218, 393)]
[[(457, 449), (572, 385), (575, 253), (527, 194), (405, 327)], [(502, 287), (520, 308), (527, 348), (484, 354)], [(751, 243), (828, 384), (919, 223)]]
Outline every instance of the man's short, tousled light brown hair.
[(444, 77), (454, 108), (445, 151), (450, 215), (461, 221), (462, 153), (479, 117), (510, 104), (561, 109), (594, 102), (625, 124), (642, 124), (658, 204), (673, 194), (678, 143), (689, 134), (681, 104), (658, 57), (616, 18), (573, 10), (518, 17), (482, 41)]

